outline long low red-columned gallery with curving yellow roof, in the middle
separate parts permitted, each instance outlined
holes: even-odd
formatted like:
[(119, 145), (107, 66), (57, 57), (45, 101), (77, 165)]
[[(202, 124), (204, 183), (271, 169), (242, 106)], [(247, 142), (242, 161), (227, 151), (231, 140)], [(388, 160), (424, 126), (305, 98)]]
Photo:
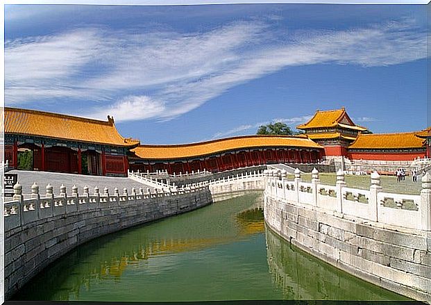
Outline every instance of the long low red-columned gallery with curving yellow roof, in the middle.
[(132, 149), (130, 169), (169, 173), (269, 163), (316, 163), (323, 147), (305, 136), (246, 135), (186, 145), (140, 145)]

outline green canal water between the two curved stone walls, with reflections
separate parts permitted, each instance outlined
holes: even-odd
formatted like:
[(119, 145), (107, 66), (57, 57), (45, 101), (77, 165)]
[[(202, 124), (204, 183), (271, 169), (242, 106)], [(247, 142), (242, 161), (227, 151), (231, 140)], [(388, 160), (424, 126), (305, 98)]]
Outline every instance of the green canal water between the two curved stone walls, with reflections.
[(291, 247), (250, 193), (81, 245), (16, 300), (404, 299)]

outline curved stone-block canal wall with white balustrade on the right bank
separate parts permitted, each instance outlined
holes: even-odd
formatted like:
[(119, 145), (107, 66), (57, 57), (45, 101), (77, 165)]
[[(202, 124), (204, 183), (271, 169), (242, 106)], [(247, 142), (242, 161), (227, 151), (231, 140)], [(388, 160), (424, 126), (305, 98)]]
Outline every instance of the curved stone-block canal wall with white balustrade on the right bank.
[(294, 182), (265, 175), (264, 219), (272, 231), (360, 279), (431, 302), (430, 174), (415, 197), (381, 192), (377, 173), (368, 192), (346, 188), (341, 171), (332, 188), (319, 184), (317, 171), (307, 188), (299, 171)]

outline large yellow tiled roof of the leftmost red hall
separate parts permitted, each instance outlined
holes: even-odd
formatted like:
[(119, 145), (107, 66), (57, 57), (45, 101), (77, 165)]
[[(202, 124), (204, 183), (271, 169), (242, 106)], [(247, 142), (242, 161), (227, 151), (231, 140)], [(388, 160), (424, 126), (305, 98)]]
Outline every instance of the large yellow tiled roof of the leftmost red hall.
[(71, 115), (9, 107), (4, 108), (4, 115), (5, 133), (124, 147), (139, 145), (138, 140), (123, 138), (115, 128), (113, 119), (108, 119), (108, 122), (105, 122)]

